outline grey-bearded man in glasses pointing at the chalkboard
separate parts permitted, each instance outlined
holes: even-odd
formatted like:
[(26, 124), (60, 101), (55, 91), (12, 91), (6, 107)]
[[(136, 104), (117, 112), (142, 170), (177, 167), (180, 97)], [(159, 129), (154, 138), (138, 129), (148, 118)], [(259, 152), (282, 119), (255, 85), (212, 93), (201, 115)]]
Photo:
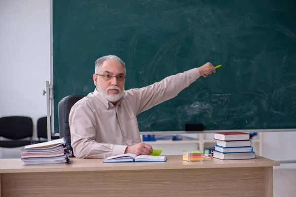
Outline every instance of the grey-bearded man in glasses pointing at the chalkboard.
[(75, 157), (149, 155), (152, 147), (141, 142), (136, 116), (176, 97), (199, 76), (207, 77), (212, 72), (216, 72), (215, 67), (207, 63), (147, 87), (125, 91), (124, 62), (113, 55), (99, 58), (93, 74), (96, 89), (75, 103), (69, 116)]

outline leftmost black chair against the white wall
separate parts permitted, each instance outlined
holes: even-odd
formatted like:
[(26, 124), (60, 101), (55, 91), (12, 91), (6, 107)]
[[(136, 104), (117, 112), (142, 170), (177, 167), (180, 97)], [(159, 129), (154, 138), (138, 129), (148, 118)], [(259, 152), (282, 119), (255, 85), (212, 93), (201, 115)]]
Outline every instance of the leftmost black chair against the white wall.
[[(6, 116), (0, 118), (0, 147), (14, 148), (32, 144), (33, 120), (27, 116)], [(25, 138), (30, 140), (23, 140)]]

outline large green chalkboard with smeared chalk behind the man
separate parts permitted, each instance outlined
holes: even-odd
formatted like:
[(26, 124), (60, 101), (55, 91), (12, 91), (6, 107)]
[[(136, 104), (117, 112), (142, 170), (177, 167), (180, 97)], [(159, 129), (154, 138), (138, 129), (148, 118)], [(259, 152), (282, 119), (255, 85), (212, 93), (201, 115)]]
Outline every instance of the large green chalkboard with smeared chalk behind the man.
[(126, 63), (125, 89), (223, 66), (138, 116), (140, 131), (296, 128), (295, 0), (53, 0), (53, 92), (93, 92), (96, 59)]

